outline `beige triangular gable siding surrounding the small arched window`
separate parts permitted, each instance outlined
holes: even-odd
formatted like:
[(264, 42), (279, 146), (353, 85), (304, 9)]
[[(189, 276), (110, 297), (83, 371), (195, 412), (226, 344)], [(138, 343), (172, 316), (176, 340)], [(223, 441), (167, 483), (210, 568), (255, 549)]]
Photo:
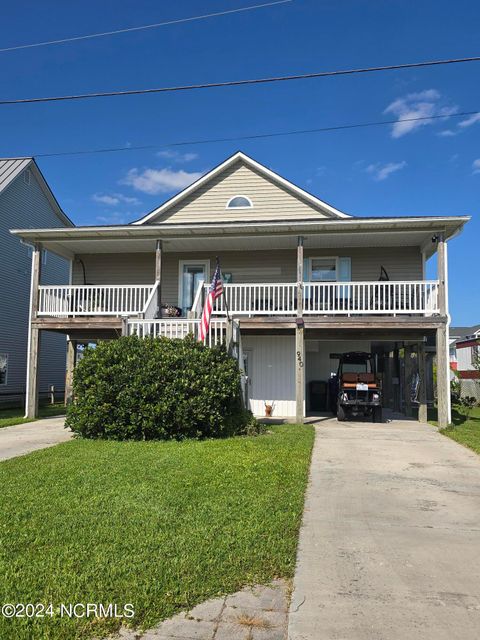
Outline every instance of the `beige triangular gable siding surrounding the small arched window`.
[[(250, 209), (226, 209), (230, 198), (247, 196), (253, 203)], [(327, 217), (320, 207), (305, 200), (279, 184), (238, 161), (173, 205), (159, 222), (219, 222), (227, 220), (289, 220)], [(146, 223), (146, 224), (149, 224)]]

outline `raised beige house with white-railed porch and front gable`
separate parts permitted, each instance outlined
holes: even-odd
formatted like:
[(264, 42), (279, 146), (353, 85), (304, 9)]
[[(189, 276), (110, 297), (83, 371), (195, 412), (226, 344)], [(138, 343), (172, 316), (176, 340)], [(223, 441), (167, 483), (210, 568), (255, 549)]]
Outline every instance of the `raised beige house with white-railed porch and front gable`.
[[(225, 301), (208, 344), (235, 330), (257, 415), (303, 421), (325, 407), (339, 352), (375, 354), (385, 405), (409, 414), (412, 379), (426, 419), (425, 344), (437, 346), (439, 421), (450, 419), (447, 243), (466, 216), (354, 217), (238, 152), (129, 225), (15, 229), (34, 245), (27, 413), (34, 415), (40, 333), (75, 344), (122, 333), (196, 331), (219, 257)], [(39, 285), (40, 254), (71, 262), (60, 286)], [(438, 256), (438, 276), (425, 263)], [(177, 315), (179, 314), (179, 315)]]

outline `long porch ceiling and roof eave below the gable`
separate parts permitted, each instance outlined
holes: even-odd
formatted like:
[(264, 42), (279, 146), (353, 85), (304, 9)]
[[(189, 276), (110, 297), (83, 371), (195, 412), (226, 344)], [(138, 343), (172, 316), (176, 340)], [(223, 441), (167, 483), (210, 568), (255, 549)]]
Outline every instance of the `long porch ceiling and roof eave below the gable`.
[(153, 252), (159, 238), (166, 252), (288, 249), (296, 247), (298, 235), (304, 236), (307, 248), (419, 246), (430, 256), (436, 248), (432, 235), (444, 232), (451, 238), (468, 220), (466, 216), (349, 218), (222, 225), (15, 229), (12, 233), (24, 242), (41, 243), (66, 258), (82, 253)]

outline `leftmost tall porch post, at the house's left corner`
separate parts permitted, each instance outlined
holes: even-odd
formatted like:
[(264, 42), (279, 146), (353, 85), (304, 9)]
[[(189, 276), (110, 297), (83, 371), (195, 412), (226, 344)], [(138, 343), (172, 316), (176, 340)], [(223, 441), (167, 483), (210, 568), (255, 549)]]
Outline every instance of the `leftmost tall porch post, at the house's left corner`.
[(30, 278), (30, 311), (27, 342), (27, 380), (25, 397), (25, 417), (34, 419), (38, 415), (38, 352), (40, 330), (33, 323), (38, 313), (38, 287), (42, 267), (42, 247), (36, 244), (32, 251), (32, 273)]

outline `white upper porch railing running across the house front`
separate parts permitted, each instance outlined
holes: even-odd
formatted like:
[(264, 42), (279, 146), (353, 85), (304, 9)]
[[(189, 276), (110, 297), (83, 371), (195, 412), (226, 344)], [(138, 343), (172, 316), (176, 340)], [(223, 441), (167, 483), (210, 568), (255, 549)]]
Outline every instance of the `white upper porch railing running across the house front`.
[[(39, 287), (39, 316), (119, 316), (156, 311), (154, 285), (67, 285)], [(306, 315), (434, 314), (438, 313), (438, 281), (305, 282)], [(195, 296), (195, 315), (201, 314), (202, 292)], [(293, 315), (297, 311), (296, 283), (224, 284), (233, 316)], [(147, 310), (148, 306), (148, 310)], [(214, 317), (225, 316), (223, 296), (216, 300)], [(144, 316), (145, 317), (145, 316)], [(139, 329), (140, 330), (140, 329)], [(147, 330), (144, 328), (143, 330)], [(153, 330), (153, 328), (152, 328)], [(173, 330), (170, 328), (170, 330)]]

